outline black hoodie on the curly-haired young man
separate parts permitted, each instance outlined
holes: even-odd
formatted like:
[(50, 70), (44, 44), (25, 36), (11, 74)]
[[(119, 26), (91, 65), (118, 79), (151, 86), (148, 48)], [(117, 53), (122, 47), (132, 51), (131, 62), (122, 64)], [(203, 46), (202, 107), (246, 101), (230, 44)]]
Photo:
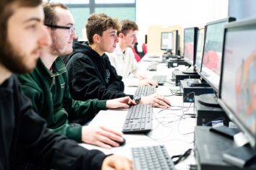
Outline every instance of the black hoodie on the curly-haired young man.
[(73, 42), (73, 50), (67, 63), (69, 90), (73, 99), (132, 97), (124, 94), (122, 77), (117, 75), (105, 53), (99, 55), (88, 42)]

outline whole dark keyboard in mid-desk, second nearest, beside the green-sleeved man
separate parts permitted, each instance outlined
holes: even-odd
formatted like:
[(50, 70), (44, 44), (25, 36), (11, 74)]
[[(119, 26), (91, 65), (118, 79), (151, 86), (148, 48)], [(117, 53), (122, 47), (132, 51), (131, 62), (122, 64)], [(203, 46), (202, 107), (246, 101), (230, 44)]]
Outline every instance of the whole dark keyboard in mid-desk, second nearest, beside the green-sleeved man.
[(148, 133), (152, 129), (151, 104), (137, 104), (129, 108), (122, 129), (123, 133)]

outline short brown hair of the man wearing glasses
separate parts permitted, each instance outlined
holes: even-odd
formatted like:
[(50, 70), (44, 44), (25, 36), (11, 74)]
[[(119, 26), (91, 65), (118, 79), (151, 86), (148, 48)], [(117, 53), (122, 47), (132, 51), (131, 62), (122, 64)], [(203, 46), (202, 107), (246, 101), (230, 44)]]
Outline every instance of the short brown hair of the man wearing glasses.
[(61, 9), (69, 9), (66, 5), (55, 2), (46, 2), (43, 4), (43, 12), (44, 12), (44, 24), (54, 25), (59, 21), (58, 16), (55, 14), (56, 7)]

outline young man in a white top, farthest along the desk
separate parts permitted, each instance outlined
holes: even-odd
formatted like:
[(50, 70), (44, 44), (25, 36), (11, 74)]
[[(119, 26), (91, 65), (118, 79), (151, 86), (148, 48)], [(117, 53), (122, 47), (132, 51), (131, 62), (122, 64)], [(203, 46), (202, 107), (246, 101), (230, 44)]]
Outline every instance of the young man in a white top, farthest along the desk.
[[(113, 53), (106, 53), (111, 65), (116, 68), (117, 74), (123, 77), (126, 86), (158, 86), (157, 82), (148, 79), (147, 75), (142, 73), (132, 51), (137, 42), (139, 27), (129, 19), (121, 20), (120, 24), (121, 29), (117, 32), (119, 42), (116, 43), (116, 49)], [(129, 76), (138, 78), (138, 80), (129, 79)]]

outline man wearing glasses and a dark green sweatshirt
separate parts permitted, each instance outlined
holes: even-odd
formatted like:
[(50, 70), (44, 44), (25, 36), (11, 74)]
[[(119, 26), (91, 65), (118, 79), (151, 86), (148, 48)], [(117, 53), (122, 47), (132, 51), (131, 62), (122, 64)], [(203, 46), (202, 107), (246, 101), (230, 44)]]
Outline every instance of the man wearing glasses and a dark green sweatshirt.
[[(43, 50), (35, 71), (19, 76), (22, 90), (33, 102), (33, 108), (46, 119), (48, 128), (67, 135), (77, 142), (103, 148), (119, 146), (122, 134), (103, 127), (81, 126), (89, 122), (101, 109), (129, 107), (135, 104), (129, 97), (111, 100), (90, 99), (75, 101), (69, 94), (67, 70), (60, 55), (72, 53), (76, 37), (74, 21), (67, 6), (46, 3), (43, 6), (45, 22), (52, 45)], [(72, 123), (70, 123), (72, 122)]]

